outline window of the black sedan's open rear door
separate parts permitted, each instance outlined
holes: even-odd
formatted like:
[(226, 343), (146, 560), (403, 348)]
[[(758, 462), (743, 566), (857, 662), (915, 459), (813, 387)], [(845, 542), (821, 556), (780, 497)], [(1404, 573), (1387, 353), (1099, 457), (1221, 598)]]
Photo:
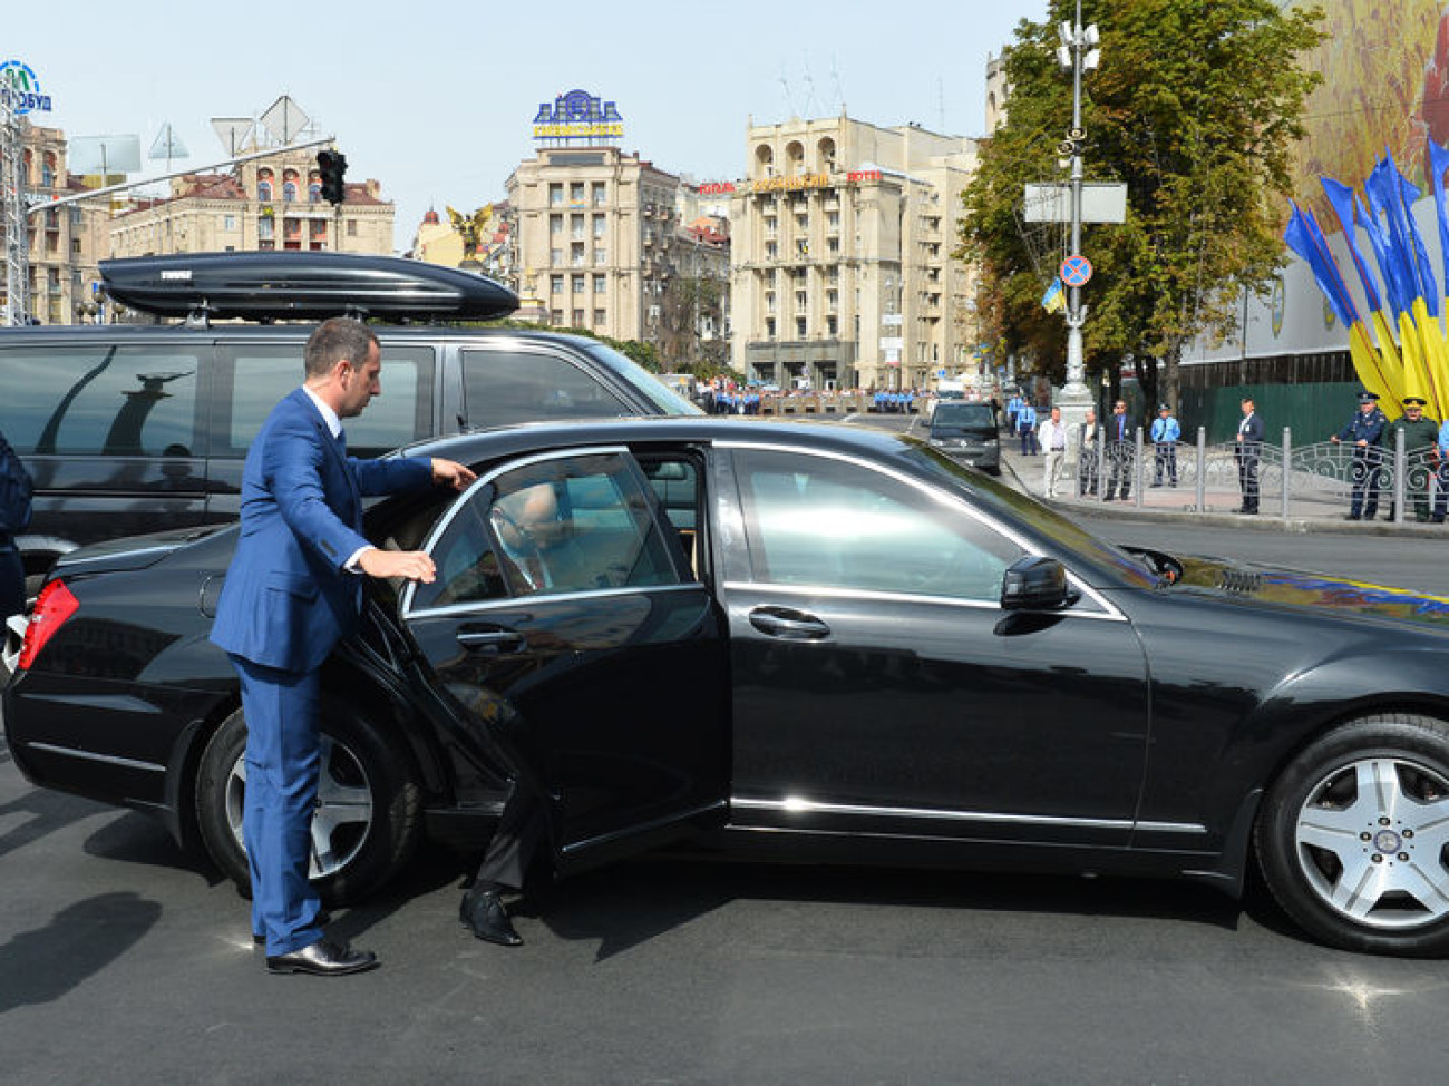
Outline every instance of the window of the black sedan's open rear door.
[(648, 485), (622, 453), (504, 471), (452, 511), (410, 608), (680, 584)]

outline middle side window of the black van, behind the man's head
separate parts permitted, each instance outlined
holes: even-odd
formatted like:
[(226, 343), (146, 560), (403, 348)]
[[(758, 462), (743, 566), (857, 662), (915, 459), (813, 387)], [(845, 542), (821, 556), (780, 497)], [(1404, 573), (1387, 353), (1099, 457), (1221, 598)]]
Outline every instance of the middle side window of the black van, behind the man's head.
[[(430, 437), (433, 369), (430, 348), (383, 345), (383, 394), (356, 418), (343, 418), (348, 452), (377, 456)], [(301, 345), (243, 343), (223, 350), (213, 416), (220, 432), (217, 455), (245, 456), (277, 401), (301, 385)]]

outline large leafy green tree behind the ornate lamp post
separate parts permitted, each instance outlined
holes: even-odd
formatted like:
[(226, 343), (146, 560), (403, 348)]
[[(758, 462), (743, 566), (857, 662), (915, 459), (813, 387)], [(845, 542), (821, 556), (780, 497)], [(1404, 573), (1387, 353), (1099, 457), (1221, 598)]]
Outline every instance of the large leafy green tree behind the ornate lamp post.
[[(1045, 23), (1023, 20), (1007, 54), (1007, 123), (984, 143), (964, 194), (958, 256), (985, 271), (985, 310), (1003, 345), (1053, 379), (1065, 329), (1040, 297), (1056, 271), (1020, 222), (1023, 187), (1065, 181), (1058, 145), (1071, 127), (1071, 77), (1056, 64), (1056, 25), (1075, 0), (1052, 0)], [(1127, 185), (1127, 222), (1087, 226), (1095, 268), (1090, 368), (1130, 359), (1149, 401), (1178, 401), (1182, 349), (1237, 327), (1237, 300), (1266, 294), (1284, 264), (1279, 237), (1304, 101), (1320, 81), (1298, 56), (1323, 38), (1317, 7), (1274, 0), (1084, 0), (1101, 33), (1101, 67), (1082, 80), (1088, 180)], [(1051, 359), (1049, 363), (1045, 363)], [(1158, 388), (1158, 362), (1165, 388)]]

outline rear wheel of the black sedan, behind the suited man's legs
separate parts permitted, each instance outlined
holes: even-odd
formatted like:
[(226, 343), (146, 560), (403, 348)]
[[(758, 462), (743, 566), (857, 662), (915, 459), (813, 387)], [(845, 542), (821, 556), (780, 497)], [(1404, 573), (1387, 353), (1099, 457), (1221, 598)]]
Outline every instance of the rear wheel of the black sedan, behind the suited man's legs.
[[(387, 731), (323, 699), (322, 769), (313, 817), (312, 882), (329, 905), (361, 901), (410, 859), (422, 834), (422, 798), (410, 759)], [(227, 717), (201, 754), (196, 812), (222, 872), (251, 891), (242, 844), (246, 720)]]

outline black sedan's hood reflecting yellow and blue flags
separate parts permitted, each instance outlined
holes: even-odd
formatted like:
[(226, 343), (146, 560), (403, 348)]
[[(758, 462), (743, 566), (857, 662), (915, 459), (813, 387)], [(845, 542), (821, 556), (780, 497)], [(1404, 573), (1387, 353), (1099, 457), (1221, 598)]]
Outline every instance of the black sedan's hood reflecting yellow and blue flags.
[(1316, 614), (1408, 621), (1449, 633), (1449, 598), (1211, 557), (1178, 557), (1174, 591), (1208, 592)]

